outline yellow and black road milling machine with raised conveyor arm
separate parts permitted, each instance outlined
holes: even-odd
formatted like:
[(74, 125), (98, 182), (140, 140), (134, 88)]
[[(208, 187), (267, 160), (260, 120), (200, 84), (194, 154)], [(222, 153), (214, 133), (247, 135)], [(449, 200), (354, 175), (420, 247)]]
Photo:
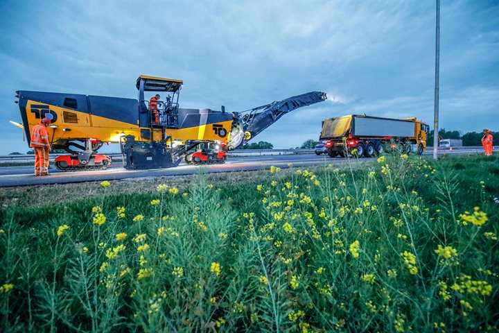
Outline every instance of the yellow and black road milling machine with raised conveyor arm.
[[(224, 163), (226, 151), (245, 144), (284, 114), (325, 101), (324, 92), (309, 92), (243, 112), (180, 108), (182, 80), (139, 76), (139, 98), (17, 91), (26, 137), (44, 117), (51, 119), (52, 148), (62, 171), (105, 169), (111, 159), (98, 154), (103, 144), (120, 143), (125, 169)], [(145, 98), (157, 92), (158, 100)], [(28, 142), (29, 144), (29, 142)]]

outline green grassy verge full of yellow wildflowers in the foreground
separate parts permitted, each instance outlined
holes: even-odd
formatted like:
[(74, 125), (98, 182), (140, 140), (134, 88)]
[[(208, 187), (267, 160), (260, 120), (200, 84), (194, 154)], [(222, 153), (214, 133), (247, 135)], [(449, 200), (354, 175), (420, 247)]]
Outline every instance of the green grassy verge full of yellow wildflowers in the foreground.
[(385, 158), (2, 191), (1, 327), (496, 330), (498, 156)]

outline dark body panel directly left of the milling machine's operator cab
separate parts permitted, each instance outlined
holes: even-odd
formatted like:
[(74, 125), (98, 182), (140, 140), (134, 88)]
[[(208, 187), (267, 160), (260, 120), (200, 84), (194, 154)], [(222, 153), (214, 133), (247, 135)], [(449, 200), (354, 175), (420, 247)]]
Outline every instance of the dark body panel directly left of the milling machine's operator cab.
[(91, 114), (133, 125), (139, 124), (139, 102), (137, 99), (104, 96), (88, 96), (88, 99)]

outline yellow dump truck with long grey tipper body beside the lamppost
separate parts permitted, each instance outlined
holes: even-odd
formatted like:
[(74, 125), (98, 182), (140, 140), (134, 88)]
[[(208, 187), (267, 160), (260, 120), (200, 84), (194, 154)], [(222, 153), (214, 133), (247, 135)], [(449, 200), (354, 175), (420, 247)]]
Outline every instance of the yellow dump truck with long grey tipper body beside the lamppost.
[(426, 150), (430, 126), (416, 118), (393, 119), (351, 114), (322, 121), (320, 141), (325, 141), (329, 157), (372, 157), (385, 147), (405, 153)]

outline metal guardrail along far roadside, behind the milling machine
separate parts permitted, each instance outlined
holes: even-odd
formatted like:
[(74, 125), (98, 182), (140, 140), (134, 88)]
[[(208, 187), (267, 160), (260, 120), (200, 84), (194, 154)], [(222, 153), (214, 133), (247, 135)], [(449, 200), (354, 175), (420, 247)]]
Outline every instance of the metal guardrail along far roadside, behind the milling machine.
[[(462, 147), (452, 147), (453, 150), (476, 150), (478, 152), (483, 151), (482, 146), (462, 146)], [(499, 146), (493, 146), (494, 151), (499, 150)], [(432, 151), (432, 147), (428, 147), (427, 151)], [(439, 151), (450, 151), (450, 148), (439, 148)], [(313, 154), (314, 149), (238, 149), (236, 151), (228, 151), (228, 155), (234, 156), (263, 156), (263, 155), (295, 155), (295, 154)], [(122, 160), (123, 155), (121, 153), (103, 153), (112, 160)], [(50, 154), (50, 160), (55, 160), (55, 157), (64, 154)], [(35, 160), (34, 154), (23, 154), (23, 155), (0, 155), (0, 164), (2, 163), (24, 163), (33, 162)]]

